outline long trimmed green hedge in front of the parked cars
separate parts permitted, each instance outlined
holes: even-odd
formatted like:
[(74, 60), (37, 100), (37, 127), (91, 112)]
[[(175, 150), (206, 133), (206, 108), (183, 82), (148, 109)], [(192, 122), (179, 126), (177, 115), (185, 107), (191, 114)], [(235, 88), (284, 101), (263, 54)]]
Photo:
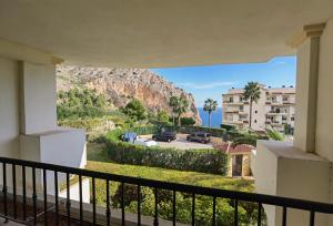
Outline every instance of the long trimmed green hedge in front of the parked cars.
[(108, 156), (123, 164), (144, 165), (179, 171), (226, 175), (226, 154), (216, 150), (175, 150), (159, 146), (144, 147), (119, 140), (121, 130), (107, 134)]

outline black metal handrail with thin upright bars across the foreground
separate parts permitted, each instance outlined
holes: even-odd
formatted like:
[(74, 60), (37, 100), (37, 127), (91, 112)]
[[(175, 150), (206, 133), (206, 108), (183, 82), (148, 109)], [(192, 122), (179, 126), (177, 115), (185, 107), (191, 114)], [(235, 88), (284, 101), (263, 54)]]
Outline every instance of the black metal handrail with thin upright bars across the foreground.
[[(0, 157), (0, 164), (2, 164), (2, 173), (3, 173), (3, 207), (4, 207), (4, 217), (10, 218), (7, 216), (7, 173), (6, 168), (7, 165), (12, 165), (12, 173), (13, 178), (16, 178), (16, 167), (14, 166), (22, 166), (22, 179), (23, 179), (23, 196), (27, 194), (26, 192), (26, 171), (27, 167), (32, 168), (32, 178), (33, 178), (33, 214), (34, 214), (34, 224), (37, 224), (37, 192), (36, 192), (36, 170), (42, 170), (43, 171), (43, 184), (47, 184), (47, 177), (46, 172), (54, 172), (54, 184), (58, 187), (58, 174), (64, 173), (67, 174), (67, 195), (68, 195), (68, 216), (70, 217), (70, 182), (69, 182), (69, 175), (78, 175), (79, 176), (79, 185), (80, 185), (80, 206), (82, 208), (82, 177), (91, 177), (92, 178), (92, 194), (95, 194), (95, 179), (104, 179), (107, 182), (107, 186), (109, 187), (109, 182), (119, 182), (121, 183), (122, 189), (124, 184), (133, 184), (138, 186), (138, 191), (141, 189), (141, 186), (152, 187), (155, 191), (155, 194), (158, 194), (159, 189), (169, 189), (173, 191), (173, 194), (175, 192), (181, 193), (189, 193), (193, 194), (193, 205), (195, 205), (195, 195), (205, 195), (215, 198), (230, 198), (235, 201), (235, 206), (239, 201), (241, 202), (251, 202), (256, 203), (259, 205), (259, 208), (262, 208), (263, 204), (268, 205), (274, 205), (274, 206), (282, 206), (283, 207), (283, 217), (284, 214), (286, 214), (286, 208), (296, 208), (302, 210), (309, 210), (310, 212), (310, 218), (314, 217), (314, 213), (323, 213), (323, 214), (333, 214), (333, 204), (329, 203), (320, 203), (320, 202), (312, 202), (312, 201), (304, 201), (299, 198), (290, 198), (290, 197), (279, 197), (273, 195), (265, 195), (265, 194), (256, 194), (256, 193), (246, 193), (246, 192), (236, 192), (236, 191), (229, 191), (229, 189), (219, 189), (219, 188), (210, 188), (210, 187), (202, 187), (202, 186), (193, 186), (193, 185), (186, 185), (186, 184), (179, 184), (179, 183), (171, 183), (171, 182), (161, 182), (155, 179), (148, 179), (148, 178), (141, 178), (141, 177), (132, 177), (132, 176), (123, 176), (123, 175), (117, 175), (117, 174), (110, 174), (110, 173), (102, 173), (102, 172), (95, 172), (95, 171), (89, 171), (83, 168), (75, 168), (75, 167), (69, 167), (69, 166), (62, 166), (62, 165), (56, 165), (50, 163), (40, 163), (40, 162), (32, 162), (32, 161), (26, 161), (26, 160), (18, 160), (18, 158), (8, 158), (8, 157)], [(16, 194), (16, 183), (13, 183), (13, 194)], [(47, 186), (46, 186), (47, 187)], [(58, 212), (58, 189), (56, 189), (56, 214)], [(47, 198), (46, 195), (47, 191), (44, 189), (44, 198)], [(138, 192), (139, 193), (139, 192)], [(138, 196), (139, 197), (139, 196)], [(175, 195), (173, 195), (175, 198)], [(23, 197), (26, 198), (26, 197)], [(93, 223), (95, 223), (95, 199), (93, 198)], [(123, 197), (122, 197), (123, 198)], [(140, 197), (139, 197), (140, 198)], [(157, 197), (155, 197), (157, 199)], [(24, 199), (23, 199), (24, 201)], [(16, 201), (14, 201), (16, 202)], [(158, 201), (155, 201), (158, 202)], [(173, 199), (173, 202), (175, 202)], [(140, 204), (140, 201), (138, 201)], [(47, 206), (47, 201), (44, 201), (44, 205)], [(157, 207), (158, 208), (158, 207)], [(215, 206), (213, 206), (215, 210)], [(193, 206), (194, 209), (194, 206)], [(235, 207), (235, 212), (236, 212)], [(81, 209), (82, 210), (82, 209)], [(82, 219), (82, 212), (80, 210), (80, 219)], [(141, 213), (140, 209), (138, 209), (138, 220), (141, 219)], [(14, 206), (14, 213), (16, 213), (16, 206)], [(107, 197), (107, 217), (108, 213), (110, 214), (110, 206), (109, 206), (109, 195)], [(155, 209), (157, 215), (154, 216), (154, 225), (158, 225), (158, 212)], [(195, 214), (195, 213), (193, 213)], [(16, 218), (17, 216), (14, 216)], [(122, 217), (123, 217), (123, 224), (124, 224), (124, 207), (122, 206)], [(259, 212), (259, 220), (261, 220), (261, 210)], [(110, 220), (110, 219), (109, 219)], [(108, 220), (108, 222), (109, 222)], [(175, 220), (175, 217), (174, 217)], [(213, 220), (215, 222), (215, 220)], [(235, 219), (236, 223), (236, 213), (235, 213)], [(312, 222), (312, 220), (311, 220)], [(235, 224), (236, 225), (236, 224)], [(314, 225), (310, 224), (310, 225)]]

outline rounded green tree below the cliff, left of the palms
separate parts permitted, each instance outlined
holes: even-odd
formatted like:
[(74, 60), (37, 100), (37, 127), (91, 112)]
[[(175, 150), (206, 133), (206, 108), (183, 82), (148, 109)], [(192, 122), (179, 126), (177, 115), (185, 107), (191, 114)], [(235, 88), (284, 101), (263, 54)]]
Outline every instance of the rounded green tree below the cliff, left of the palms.
[(122, 113), (124, 113), (132, 122), (139, 122), (147, 119), (147, 110), (143, 104), (133, 99), (130, 101), (123, 109), (121, 109)]

